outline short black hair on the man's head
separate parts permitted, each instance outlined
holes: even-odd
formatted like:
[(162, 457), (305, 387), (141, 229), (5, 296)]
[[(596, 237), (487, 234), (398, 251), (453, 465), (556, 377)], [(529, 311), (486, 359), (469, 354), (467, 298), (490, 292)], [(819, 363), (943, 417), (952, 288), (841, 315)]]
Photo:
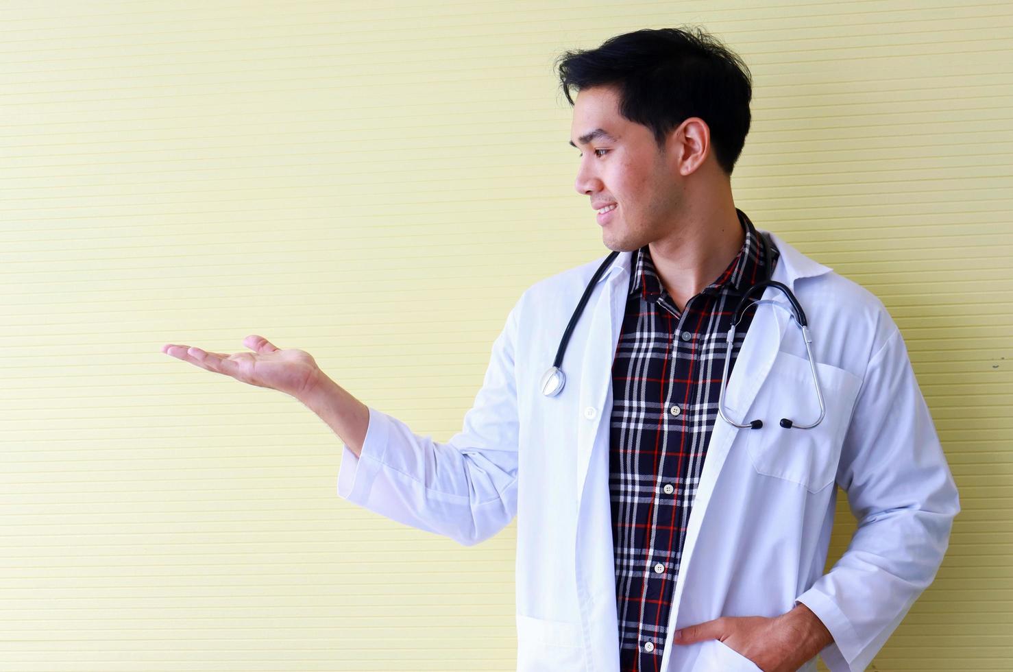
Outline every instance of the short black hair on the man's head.
[(616, 86), (619, 113), (649, 128), (658, 148), (669, 131), (699, 117), (717, 162), (731, 174), (750, 132), (753, 80), (742, 58), (702, 28), (626, 32), (598, 49), (565, 52), (556, 68), (571, 105), (570, 88)]

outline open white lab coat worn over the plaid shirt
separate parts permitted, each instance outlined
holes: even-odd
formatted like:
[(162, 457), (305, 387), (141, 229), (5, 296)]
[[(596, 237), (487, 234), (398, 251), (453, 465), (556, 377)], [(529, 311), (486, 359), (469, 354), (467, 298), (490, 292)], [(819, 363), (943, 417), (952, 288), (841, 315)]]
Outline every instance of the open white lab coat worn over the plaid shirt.
[[(883, 305), (774, 236), (774, 280), (805, 310), (827, 416), (811, 430), (781, 418), (819, 414), (799, 329), (762, 305), (711, 434), (673, 595), (665, 672), (756, 671), (717, 641), (672, 644), (678, 627), (719, 616), (775, 616), (795, 602), (830, 629), (833, 672), (862, 670), (942, 561), (956, 487), (904, 341)], [(617, 670), (616, 580), (609, 492), (612, 361), (630, 274), (622, 252), (598, 281), (573, 330), (566, 386), (539, 380), (604, 256), (530, 287), (492, 346), (461, 432), (414, 434), (370, 407), (362, 456), (344, 446), (340, 497), (462, 544), (517, 515), (518, 669)], [(765, 299), (784, 303), (768, 289)], [(824, 575), (837, 487), (860, 525)], [(660, 484), (660, 483), (659, 483)], [(647, 571), (647, 570), (645, 570)], [(802, 668), (814, 670), (814, 659)]]

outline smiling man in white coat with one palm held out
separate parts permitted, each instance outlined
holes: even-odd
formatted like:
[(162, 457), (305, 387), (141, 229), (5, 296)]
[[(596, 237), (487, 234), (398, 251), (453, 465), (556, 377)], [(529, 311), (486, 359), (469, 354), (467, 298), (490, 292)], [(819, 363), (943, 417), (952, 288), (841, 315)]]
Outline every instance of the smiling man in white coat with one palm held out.
[[(559, 75), (576, 191), (620, 253), (522, 295), (449, 442), (260, 337), (166, 352), (303, 400), (345, 444), (352, 502), (464, 544), (517, 515), (519, 669), (864, 669), (959, 510), (897, 326), (735, 208), (752, 83), (716, 40), (639, 30)], [(860, 524), (823, 576), (835, 483)]]

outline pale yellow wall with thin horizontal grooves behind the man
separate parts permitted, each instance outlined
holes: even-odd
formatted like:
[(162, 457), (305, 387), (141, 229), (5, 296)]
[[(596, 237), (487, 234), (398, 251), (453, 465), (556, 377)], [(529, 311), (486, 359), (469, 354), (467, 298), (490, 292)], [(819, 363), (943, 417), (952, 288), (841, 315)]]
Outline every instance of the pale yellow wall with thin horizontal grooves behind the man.
[(686, 22), (755, 76), (736, 205), (886, 303), (960, 487), (874, 669), (1013, 668), (1013, 6), (768, 4), (3, 2), (0, 669), (512, 669), (513, 525), (353, 507), (307, 408), (160, 348), (263, 334), (449, 438), (607, 251), (552, 60)]

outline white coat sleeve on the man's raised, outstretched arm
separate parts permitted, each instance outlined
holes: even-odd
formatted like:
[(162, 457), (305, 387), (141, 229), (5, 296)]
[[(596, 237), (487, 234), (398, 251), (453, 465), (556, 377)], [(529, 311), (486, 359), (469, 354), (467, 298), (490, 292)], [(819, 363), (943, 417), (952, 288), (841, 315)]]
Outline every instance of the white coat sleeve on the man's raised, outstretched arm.
[[(522, 296), (522, 300), (523, 300)], [(492, 345), (463, 429), (447, 443), (370, 407), (362, 454), (343, 446), (337, 494), (421, 530), (476, 544), (517, 514), (518, 403), (514, 355), (521, 301)]]

